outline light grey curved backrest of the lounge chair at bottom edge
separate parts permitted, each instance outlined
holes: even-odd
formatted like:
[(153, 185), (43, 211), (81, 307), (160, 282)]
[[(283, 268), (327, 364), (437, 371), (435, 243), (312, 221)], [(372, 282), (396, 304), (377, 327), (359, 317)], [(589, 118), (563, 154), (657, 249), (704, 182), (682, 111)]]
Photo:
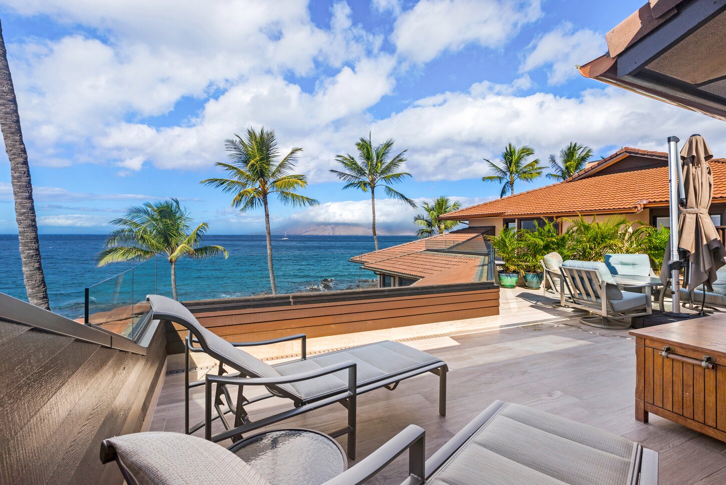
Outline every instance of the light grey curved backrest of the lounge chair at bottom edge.
[(269, 485), (219, 444), (181, 433), (134, 433), (106, 440), (135, 484)]

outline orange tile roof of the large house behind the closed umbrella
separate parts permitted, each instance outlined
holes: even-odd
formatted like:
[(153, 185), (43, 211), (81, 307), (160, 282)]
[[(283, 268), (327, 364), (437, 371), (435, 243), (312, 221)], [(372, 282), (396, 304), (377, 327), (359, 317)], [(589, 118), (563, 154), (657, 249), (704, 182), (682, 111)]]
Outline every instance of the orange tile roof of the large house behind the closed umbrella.
[[(501, 199), (473, 205), (448, 213), (441, 219), (467, 220), (487, 216), (569, 216), (578, 213), (627, 213), (637, 212), (648, 205), (664, 205), (668, 202), (668, 168), (666, 166), (595, 175), (623, 152), (632, 151), (653, 158), (663, 152), (646, 152), (626, 148), (593, 164), (565, 182), (531, 189)], [(726, 200), (726, 159), (710, 161), (714, 174), (714, 200)], [(584, 172), (589, 176), (583, 176)]]

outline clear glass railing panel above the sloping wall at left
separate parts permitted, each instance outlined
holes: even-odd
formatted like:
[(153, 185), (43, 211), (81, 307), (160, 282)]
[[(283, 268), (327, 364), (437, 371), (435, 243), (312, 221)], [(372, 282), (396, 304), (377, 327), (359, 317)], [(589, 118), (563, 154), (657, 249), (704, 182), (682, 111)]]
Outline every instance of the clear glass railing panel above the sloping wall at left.
[[(136, 339), (149, 311), (146, 296), (158, 293), (154, 257), (86, 288), (86, 324)], [(163, 294), (163, 293), (162, 293)]]

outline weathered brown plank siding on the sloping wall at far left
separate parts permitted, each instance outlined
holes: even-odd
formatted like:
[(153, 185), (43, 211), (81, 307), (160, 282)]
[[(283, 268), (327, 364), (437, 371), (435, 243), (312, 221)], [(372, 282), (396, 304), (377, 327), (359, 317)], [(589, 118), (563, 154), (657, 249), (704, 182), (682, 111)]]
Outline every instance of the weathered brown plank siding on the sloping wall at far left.
[(142, 430), (163, 382), (166, 341), (146, 355), (0, 319), (0, 484), (121, 484), (103, 439)]

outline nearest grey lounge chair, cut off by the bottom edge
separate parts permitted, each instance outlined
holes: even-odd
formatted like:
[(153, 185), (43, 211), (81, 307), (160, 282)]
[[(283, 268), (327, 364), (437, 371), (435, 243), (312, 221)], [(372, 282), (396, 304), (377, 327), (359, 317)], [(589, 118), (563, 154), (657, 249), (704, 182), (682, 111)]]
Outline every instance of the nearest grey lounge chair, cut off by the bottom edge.
[[(270, 484), (220, 445), (194, 436), (174, 439), (171, 434), (107, 439), (101, 444), (101, 461), (116, 460), (126, 481), (134, 485)], [(362, 484), (406, 450), (409, 476), (402, 485), (658, 484), (658, 453), (653, 450), (518, 404), (494, 402), (428, 460), (424, 441), (423, 429), (409, 425), (323, 485)], [(280, 450), (284, 448), (271, 452)], [(199, 465), (189, 466), (195, 463)], [(280, 482), (309, 484), (305, 476), (285, 476)]]

